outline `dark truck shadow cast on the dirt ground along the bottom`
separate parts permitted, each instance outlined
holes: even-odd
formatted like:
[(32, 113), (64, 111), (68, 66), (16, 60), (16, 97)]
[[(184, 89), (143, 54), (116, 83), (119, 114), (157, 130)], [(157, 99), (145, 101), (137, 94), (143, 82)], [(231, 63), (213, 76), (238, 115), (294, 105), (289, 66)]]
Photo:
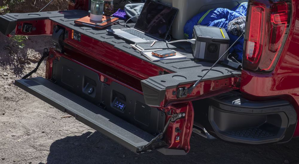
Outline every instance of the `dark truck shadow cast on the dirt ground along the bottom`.
[(191, 137), (185, 156), (158, 151), (135, 154), (99, 132), (57, 140), (50, 146), (47, 164), (58, 163), (299, 163), (299, 139), (280, 145), (236, 145)]

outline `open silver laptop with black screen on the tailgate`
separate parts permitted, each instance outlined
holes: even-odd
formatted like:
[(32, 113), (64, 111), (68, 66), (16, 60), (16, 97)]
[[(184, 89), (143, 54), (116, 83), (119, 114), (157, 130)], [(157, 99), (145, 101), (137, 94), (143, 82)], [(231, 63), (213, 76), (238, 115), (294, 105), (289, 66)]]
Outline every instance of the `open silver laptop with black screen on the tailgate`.
[(176, 8), (147, 0), (134, 28), (107, 31), (135, 43), (165, 41), (177, 13)]

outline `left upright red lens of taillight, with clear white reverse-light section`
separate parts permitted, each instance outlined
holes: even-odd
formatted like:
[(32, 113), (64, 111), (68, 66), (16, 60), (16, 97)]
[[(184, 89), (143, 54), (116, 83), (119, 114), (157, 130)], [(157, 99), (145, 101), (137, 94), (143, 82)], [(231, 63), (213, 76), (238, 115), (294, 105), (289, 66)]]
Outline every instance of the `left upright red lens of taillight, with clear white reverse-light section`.
[(251, 6), (251, 18), (249, 36), (246, 46), (247, 60), (253, 63), (257, 63), (261, 55), (262, 43), (263, 43), (263, 26), (264, 26), (264, 7)]

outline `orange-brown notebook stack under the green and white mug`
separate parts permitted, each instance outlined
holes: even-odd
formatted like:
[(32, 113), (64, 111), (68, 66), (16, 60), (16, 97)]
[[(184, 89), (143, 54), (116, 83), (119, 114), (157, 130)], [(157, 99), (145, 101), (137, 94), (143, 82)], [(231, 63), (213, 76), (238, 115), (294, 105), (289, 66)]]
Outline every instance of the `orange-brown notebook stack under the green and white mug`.
[(89, 27), (95, 27), (99, 29), (103, 29), (105, 27), (111, 26), (118, 22), (118, 18), (110, 17), (110, 16), (103, 16), (103, 21), (92, 21), (90, 20), (89, 16), (85, 16), (83, 18), (77, 19), (74, 21), (75, 24), (85, 25)]

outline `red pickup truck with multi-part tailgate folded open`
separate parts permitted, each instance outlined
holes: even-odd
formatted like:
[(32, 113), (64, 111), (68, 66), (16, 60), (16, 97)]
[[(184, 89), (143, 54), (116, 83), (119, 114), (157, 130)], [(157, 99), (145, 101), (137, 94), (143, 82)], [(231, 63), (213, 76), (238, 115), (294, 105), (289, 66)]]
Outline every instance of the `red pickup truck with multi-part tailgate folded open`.
[(88, 0), (69, 1), (65, 11), (2, 15), (0, 31), (52, 35), (45, 77), (16, 80), (20, 88), (136, 153), (187, 154), (192, 132), (245, 144), (299, 136), (298, 6), (250, 0), (242, 72), (217, 64), (192, 92), (213, 63), (189, 52), (152, 62), (106, 29), (74, 24), (88, 15)]

